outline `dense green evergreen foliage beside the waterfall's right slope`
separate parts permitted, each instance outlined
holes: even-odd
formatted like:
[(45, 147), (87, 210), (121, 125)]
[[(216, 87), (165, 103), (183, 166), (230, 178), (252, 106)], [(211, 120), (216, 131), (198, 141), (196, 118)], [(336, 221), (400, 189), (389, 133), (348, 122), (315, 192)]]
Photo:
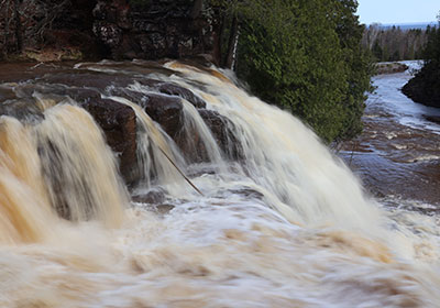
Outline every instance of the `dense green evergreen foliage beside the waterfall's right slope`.
[(371, 62), (353, 0), (229, 1), (241, 20), (238, 74), (324, 141), (362, 130)]

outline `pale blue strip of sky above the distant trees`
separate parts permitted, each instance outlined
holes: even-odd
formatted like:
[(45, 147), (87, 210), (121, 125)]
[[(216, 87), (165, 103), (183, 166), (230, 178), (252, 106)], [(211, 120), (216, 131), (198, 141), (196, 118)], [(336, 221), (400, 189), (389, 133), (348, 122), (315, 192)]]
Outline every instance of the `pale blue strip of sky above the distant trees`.
[(361, 23), (416, 23), (437, 21), (440, 0), (358, 0)]

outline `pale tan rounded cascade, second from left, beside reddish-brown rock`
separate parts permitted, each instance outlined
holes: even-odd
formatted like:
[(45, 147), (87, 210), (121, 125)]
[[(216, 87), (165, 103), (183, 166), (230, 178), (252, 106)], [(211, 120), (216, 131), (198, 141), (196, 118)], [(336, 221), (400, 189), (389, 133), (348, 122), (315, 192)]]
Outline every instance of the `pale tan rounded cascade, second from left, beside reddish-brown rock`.
[(43, 178), (62, 217), (118, 224), (127, 193), (100, 130), (82, 109), (57, 105), (35, 128)]

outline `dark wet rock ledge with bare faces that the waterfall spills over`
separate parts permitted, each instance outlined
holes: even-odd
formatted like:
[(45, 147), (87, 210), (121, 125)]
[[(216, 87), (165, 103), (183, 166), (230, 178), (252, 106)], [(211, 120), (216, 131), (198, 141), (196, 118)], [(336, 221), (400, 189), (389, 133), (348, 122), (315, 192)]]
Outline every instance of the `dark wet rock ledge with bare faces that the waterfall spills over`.
[[(44, 107), (42, 109), (35, 103), (35, 92), (45, 98), (53, 98), (50, 102), (51, 106), (63, 102), (65, 99), (73, 99), (85, 108), (101, 128), (108, 145), (117, 153), (119, 170), (129, 185), (140, 180), (136, 161), (136, 117), (131, 107), (111, 98), (103, 98), (106, 96), (119, 96), (138, 103), (176, 142), (187, 160), (207, 162), (209, 160), (207, 150), (197, 130), (191, 131), (190, 135), (183, 133), (184, 99), (200, 113), (222, 152), (228, 157), (239, 157), (239, 145), (229, 129), (232, 124), (228, 119), (216, 111), (207, 110), (206, 102), (189, 89), (169, 81), (144, 78), (139, 75), (154, 72), (156, 68), (157, 72), (163, 70), (169, 74), (167, 69), (156, 63), (144, 62), (139, 66), (133, 65), (133, 69), (138, 74), (131, 76), (106, 70), (106, 66), (107, 64), (102, 63), (102, 72), (99, 69), (73, 72), (59, 68), (46, 74), (46, 69), (43, 69), (41, 74), (36, 74), (37, 78), (33, 81), (3, 88), (1, 95), (4, 102), (0, 106), (0, 112), (20, 120), (41, 121), (44, 119)], [(116, 64), (117, 66), (118, 64)], [(130, 72), (129, 63), (125, 68), (129, 68)], [(129, 87), (133, 84), (145, 87), (148, 91), (133, 90)]]

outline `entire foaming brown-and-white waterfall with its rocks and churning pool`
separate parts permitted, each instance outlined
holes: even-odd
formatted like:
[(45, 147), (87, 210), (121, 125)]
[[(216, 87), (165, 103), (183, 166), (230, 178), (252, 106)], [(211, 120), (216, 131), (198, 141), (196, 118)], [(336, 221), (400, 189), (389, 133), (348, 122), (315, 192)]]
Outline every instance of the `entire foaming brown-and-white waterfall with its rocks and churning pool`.
[(229, 72), (28, 79), (0, 85), (1, 307), (439, 307), (438, 218), (366, 196)]

